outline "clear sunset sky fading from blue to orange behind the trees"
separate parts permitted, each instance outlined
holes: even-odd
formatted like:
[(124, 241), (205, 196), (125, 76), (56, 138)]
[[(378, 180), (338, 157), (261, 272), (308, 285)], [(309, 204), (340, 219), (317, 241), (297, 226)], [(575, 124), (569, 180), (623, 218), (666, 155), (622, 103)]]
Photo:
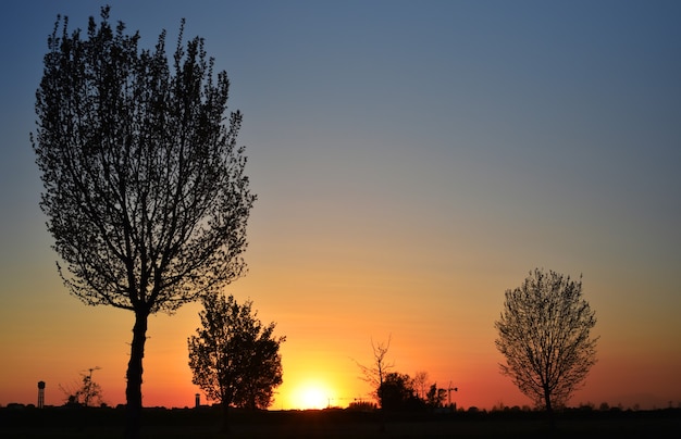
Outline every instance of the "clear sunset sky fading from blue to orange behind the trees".
[[(258, 201), (231, 286), (277, 322), (273, 409), (367, 398), (355, 361), (459, 406), (530, 404), (498, 373), (494, 321), (534, 267), (583, 274), (598, 363), (571, 404), (681, 402), (681, 3), (111, 1), (152, 47), (206, 38), (245, 114)], [(0, 405), (46, 403), (94, 366), (123, 403), (133, 315), (70, 296), (28, 134), (47, 36), (94, 1), (2, 1)], [(145, 405), (191, 406), (199, 304), (150, 317)], [(307, 401), (306, 393), (318, 400)], [(307, 401), (307, 402), (306, 402)]]

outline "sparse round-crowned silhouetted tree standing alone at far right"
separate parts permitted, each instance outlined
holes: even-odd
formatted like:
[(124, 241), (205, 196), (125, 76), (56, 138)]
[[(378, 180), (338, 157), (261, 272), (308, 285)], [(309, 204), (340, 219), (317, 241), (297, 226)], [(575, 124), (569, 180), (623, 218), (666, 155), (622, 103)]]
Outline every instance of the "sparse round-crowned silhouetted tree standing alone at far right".
[(552, 426), (554, 407), (567, 402), (596, 362), (595, 324), (581, 279), (537, 268), (519, 288), (506, 291), (495, 322), (496, 347), (506, 356), (502, 373), (546, 409)]

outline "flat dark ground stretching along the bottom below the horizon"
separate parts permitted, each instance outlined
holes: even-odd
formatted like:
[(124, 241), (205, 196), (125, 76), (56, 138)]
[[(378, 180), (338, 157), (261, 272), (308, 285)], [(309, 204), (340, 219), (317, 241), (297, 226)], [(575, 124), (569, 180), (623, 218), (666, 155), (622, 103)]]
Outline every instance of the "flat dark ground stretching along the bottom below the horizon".
[[(121, 438), (125, 409), (0, 409), (1, 438)], [(141, 438), (223, 438), (220, 410), (145, 409)], [(676, 438), (681, 409), (583, 411), (558, 414), (552, 434), (541, 412), (379, 413), (348, 410), (239, 412), (231, 414), (233, 438)]]

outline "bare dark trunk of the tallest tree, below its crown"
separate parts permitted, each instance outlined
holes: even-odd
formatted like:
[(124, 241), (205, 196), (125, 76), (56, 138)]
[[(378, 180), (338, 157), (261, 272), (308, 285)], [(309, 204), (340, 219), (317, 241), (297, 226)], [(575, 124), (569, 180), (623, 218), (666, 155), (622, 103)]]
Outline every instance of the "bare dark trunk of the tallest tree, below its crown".
[(127, 387), (125, 398), (125, 438), (139, 437), (141, 426), (141, 360), (145, 356), (147, 341), (147, 317), (149, 313), (135, 311), (135, 326), (133, 326), (133, 343), (131, 344), (131, 360), (127, 363)]

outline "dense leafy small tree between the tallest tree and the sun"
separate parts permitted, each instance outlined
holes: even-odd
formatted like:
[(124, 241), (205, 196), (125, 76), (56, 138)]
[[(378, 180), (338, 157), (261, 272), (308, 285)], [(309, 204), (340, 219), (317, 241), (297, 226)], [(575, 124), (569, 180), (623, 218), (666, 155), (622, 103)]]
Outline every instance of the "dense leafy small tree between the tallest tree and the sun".
[(239, 305), (233, 296), (209, 293), (199, 313), (201, 327), (188, 339), (193, 382), (223, 407), (228, 430), (228, 407), (267, 409), (274, 388), (282, 384), (280, 344), (275, 324), (263, 326), (251, 301)]

